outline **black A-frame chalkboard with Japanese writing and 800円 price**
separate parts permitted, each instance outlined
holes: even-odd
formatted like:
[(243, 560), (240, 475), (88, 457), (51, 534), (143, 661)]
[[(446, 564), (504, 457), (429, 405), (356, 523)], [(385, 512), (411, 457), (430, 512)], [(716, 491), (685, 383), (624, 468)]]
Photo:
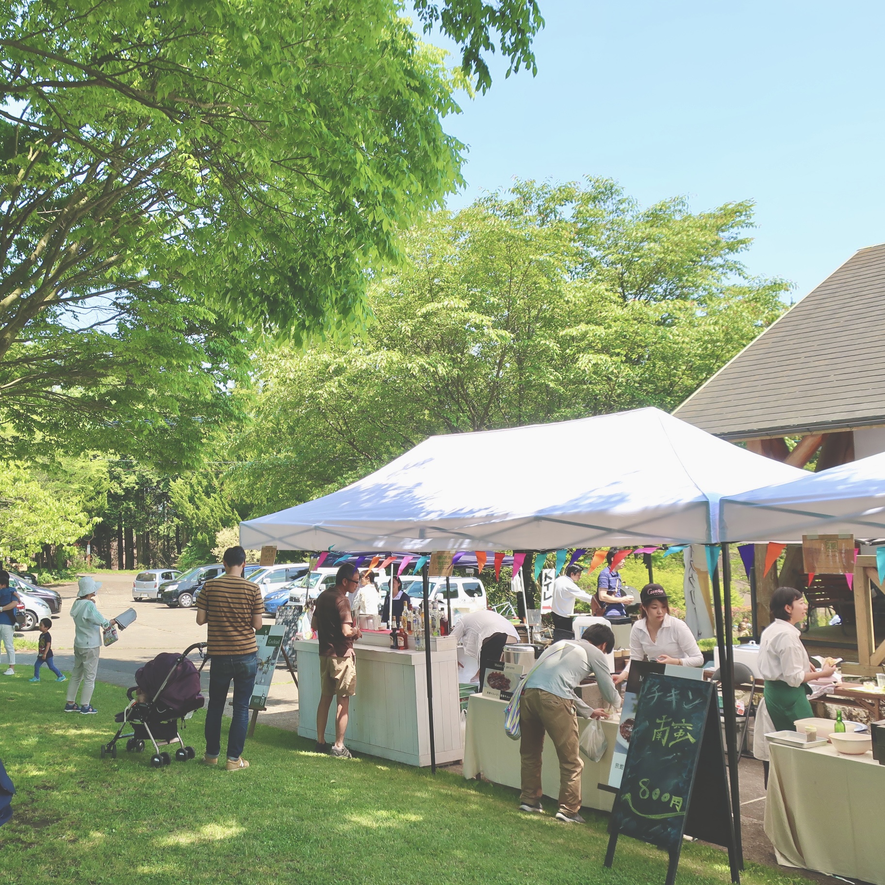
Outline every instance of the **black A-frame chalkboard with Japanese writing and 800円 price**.
[(609, 834), (605, 866), (612, 866), (618, 836), (628, 835), (669, 852), (666, 885), (673, 885), (682, 836), (691, 835), (726, 847), (731, 881), (741, 881), (711, 682), (645, 677)]

